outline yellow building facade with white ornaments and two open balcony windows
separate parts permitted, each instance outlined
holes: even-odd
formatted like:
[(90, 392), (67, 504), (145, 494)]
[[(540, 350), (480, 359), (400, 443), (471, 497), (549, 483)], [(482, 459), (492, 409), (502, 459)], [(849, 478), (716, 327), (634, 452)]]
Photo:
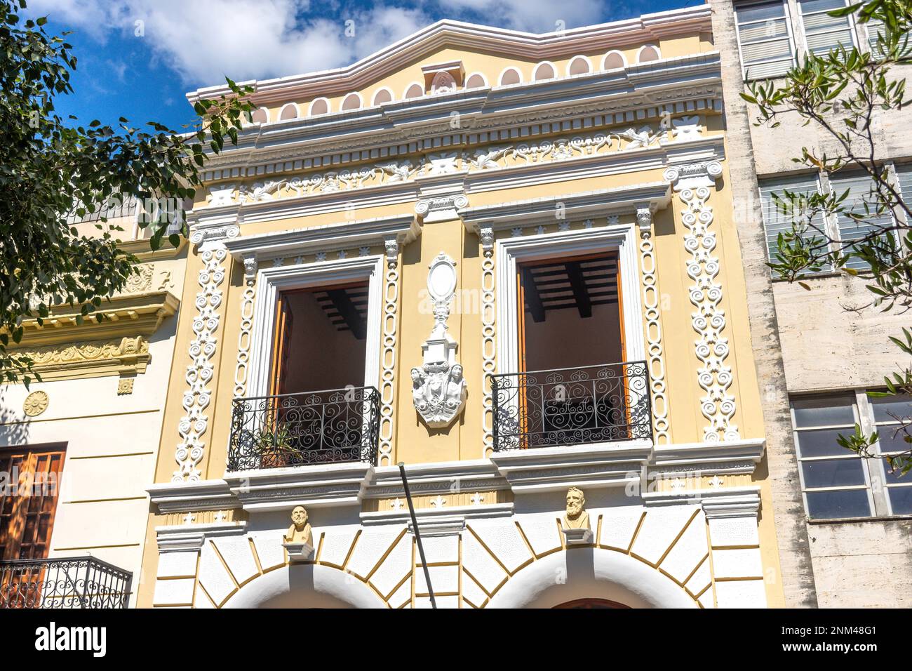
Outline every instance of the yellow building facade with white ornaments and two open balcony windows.
[(707, 6), (254, 88), (188, 214), (140, 607), (783, 604)]

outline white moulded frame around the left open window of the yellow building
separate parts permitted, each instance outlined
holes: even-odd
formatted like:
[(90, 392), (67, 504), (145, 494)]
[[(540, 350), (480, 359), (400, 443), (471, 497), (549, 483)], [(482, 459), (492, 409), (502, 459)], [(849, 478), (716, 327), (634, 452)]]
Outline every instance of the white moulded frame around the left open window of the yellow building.
[[(291, 252), (293, 254), (294, 252)], [(380, 388), (380, 310), (384, 257), (357, 257), (316, 261), (296, 266), (261, 267), (256, 272), (250, 382), (247, 397), (269, 393), (272, 365), (275, 305), (279, 293), (301, 288), (368, 280), (368, 331), (364, 362), (364, 386)], [(315, 352), (315, 354), (318, 352)]]

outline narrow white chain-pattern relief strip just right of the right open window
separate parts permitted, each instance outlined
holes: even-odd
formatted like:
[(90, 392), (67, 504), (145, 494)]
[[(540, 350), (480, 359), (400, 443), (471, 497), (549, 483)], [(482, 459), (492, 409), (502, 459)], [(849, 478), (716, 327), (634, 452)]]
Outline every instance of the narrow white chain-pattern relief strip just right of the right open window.
[(637, 207), (639, 228), (640, 271), (643, 283), (643, 311), (646, 317), (646, 341), (649, 385), (652, 396), (652, 427), (657, 445), (668, 445), (668, 394), (665, 382), (665, 357), (662, 326), (659, 320), (660, 295), (656, 274), (656, 248), (652, 238), (652, 210)]

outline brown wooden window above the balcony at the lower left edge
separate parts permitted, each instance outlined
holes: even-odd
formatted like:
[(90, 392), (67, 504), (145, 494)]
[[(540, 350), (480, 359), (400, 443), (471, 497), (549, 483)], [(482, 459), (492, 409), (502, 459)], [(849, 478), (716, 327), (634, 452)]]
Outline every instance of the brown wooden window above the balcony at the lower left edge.
[(0, 449), (0, 561), (47, 557), (63, 460), (61, 446)]

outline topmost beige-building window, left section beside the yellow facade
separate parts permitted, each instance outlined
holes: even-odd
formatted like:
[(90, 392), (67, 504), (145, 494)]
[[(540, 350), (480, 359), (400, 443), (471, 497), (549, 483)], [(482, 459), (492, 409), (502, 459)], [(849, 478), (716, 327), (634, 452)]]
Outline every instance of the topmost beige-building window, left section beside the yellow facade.
[(779, 77), (793, 65), (793, 41), (782, 0), (735, 6), (745, 79)]

